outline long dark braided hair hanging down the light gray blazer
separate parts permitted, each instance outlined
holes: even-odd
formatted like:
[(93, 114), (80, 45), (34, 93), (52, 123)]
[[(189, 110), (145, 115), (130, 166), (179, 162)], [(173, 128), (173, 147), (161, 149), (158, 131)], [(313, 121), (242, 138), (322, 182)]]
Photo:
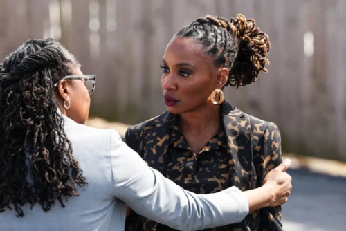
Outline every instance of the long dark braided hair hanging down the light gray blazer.
[(53, 84), (77, 60), (54, 39), (30, 39), (0, 64), (0, 212), (39, 203), (47, 212), (86, 184), (72, 156)]

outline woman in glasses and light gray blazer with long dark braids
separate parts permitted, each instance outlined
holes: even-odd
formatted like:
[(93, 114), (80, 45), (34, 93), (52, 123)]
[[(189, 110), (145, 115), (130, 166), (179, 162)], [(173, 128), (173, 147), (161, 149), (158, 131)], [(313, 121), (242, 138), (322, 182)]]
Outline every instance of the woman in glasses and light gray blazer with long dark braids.
[[(0, 64), (0, 230), (124, 230), (125, 203), (172, 228), (199, 230), (286, 199), (291, 179), (280, 169), (248, 192), (183, 190), (116, 131), (84, 125), (94, 89), (95, 75), (83, 75), (53, 39), (30, 39)], [(269, 190), (277, 197), (260, 195)]]

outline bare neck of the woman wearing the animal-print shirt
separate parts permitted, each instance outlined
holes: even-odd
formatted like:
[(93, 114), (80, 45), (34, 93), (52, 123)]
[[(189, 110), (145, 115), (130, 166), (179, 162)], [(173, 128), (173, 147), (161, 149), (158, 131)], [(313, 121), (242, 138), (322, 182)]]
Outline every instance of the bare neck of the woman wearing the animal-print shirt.
[(220, 105), (206, 104), (206, 106), (180, 115), (179, 129), (195, 135), (203, 131), (215, 130), (220, 123)]

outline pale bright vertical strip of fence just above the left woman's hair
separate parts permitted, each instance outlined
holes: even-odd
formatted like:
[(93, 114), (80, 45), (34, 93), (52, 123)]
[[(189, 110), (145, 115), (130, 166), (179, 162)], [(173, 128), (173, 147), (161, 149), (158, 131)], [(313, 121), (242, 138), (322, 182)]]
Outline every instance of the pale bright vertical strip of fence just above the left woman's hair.
[(60, 2), (57, 0), (49, 1), (49, 37), (59, 40), (62, 36), (60, 25)]

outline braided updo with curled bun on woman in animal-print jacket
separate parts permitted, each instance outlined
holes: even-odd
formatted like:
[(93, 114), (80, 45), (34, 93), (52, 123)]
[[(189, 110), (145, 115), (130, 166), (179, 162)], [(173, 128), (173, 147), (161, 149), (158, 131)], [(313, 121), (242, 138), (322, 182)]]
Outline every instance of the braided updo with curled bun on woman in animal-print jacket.
[(257, 80), (260, 71), (268, 72), (266, 55), (271, 48), (268, 35), (256, 27), (255, 20), (237, 15), (224, 19), (207, 15), (193, 21), (176, 33), (195, 39), (215, 66), (225, 66), (229, 75), (225, 86), (245, 86)]

